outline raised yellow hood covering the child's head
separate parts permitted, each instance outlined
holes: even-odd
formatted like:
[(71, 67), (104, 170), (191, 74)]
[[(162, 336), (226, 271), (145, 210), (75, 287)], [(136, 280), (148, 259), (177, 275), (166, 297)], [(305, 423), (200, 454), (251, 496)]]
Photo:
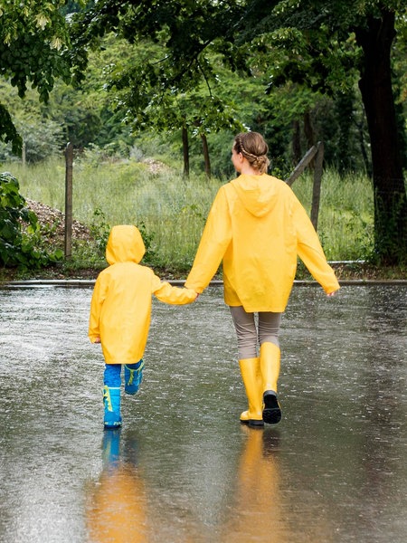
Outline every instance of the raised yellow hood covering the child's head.
[(106, 246), (109, 264), (118, 262), (140, 262), (146, 252), (143, 238), (136, 226), (120, 224), (111, 229)]

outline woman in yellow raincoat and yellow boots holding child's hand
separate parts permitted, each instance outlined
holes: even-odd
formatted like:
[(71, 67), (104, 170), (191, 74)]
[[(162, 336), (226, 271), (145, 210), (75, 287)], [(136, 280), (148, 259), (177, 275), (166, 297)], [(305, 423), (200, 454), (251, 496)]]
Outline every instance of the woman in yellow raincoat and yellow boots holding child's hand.
[(216, 195), (185, 282), (185, 287), (201, 293), (223, 263), (224, 300), (232, 312), (249, 400), (241, 423), (251, 426), (281, 419), (279, 325), (297, 257), (328, 296), (339, 289), (305, 209), (284, 181), (267, 175), (268, 151), (257, 132), (234, 139), (232, 164), (241, 175)]

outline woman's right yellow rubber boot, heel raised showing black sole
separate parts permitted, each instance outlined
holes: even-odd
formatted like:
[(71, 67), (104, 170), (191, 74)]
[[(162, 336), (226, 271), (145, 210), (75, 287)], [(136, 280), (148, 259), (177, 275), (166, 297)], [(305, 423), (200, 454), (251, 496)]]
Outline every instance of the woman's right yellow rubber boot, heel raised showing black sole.
[(260, 345), (260, 373), (263, 390), (263, 421), (277, 424), (281, 420), (281, 408), (277, 399), (277, 382), (279, 380), (280, 351), (274, 343)]

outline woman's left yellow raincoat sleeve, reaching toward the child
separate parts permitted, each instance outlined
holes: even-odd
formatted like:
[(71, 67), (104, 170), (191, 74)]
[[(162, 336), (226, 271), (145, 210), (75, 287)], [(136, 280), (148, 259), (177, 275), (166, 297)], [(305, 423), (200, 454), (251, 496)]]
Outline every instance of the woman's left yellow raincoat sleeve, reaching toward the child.
[(204, 227), (185, 287), (201, 293), (218, 271), (226, 249), (232, 241), (232, 222), (225, 191), (216, 195)]

